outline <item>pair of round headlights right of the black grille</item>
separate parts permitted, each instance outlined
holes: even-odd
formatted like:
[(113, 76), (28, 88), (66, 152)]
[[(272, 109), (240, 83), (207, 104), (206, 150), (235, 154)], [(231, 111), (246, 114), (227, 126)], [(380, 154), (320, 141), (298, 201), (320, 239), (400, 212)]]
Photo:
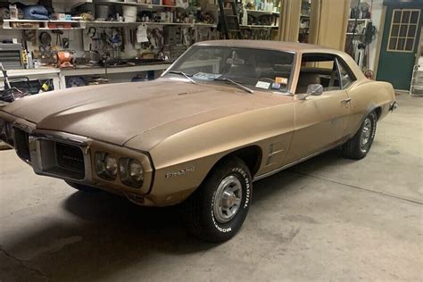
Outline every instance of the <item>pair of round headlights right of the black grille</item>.
[(95, 172), (100, 178), (114, 180), (118, 174), (120, 181), (134, 188), (143, 186), (144, 168), (141, 162), (133, 158), (116, 158), (110, 153), (95, 153)]

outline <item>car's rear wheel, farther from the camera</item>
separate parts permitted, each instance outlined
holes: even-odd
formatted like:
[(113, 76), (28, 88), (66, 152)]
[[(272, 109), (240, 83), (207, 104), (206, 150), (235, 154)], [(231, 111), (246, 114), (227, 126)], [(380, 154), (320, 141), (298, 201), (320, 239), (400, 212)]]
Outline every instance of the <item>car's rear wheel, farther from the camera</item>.
[(353, 160), (360, 160), (369, 153), (376, 134), (376, 122), (376, 113), (370, 112), (364, 119), (357, 133), (342, 145), (345, 157)]

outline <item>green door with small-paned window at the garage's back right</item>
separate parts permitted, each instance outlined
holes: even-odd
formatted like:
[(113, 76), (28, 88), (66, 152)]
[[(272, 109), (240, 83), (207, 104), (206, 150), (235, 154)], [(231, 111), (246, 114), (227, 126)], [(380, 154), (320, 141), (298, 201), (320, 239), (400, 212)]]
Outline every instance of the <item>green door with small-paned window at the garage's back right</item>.
[[(394, 1), (393, 1), (394, 2)], [(409, 90), (419, 46), (422, 4), (388, 4), (377, 80), (388, 81), (398, 90)]]

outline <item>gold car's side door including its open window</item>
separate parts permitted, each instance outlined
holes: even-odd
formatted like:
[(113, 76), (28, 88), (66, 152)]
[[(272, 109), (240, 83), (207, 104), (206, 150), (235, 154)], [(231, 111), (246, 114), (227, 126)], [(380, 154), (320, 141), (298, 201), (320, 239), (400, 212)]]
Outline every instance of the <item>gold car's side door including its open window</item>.
[[(319, 153), (338, 144), (345, 136), (351, 99), (340, 78), (343, 77), (335, 56), (303, 54), (303, 67), (294, 95), (294, 135), (286, 163)], [(321, 84), (323, 93), (303, 99), (299, 94), (305, 93), (311, 84)]]

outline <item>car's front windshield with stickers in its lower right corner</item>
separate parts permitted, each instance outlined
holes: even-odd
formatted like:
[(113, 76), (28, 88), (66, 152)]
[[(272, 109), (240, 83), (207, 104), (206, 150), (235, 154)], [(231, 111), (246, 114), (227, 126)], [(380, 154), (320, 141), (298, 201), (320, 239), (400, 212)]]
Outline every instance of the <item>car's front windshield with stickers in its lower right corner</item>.
[(251, 89), (286, 92), (293, 62), (294, 54), (289, 52), (233, 46), (193, 46), (178, 59), (167, 75), (184, 75), (195, 82), (229, 82), (237, 87), (236, 82)]

